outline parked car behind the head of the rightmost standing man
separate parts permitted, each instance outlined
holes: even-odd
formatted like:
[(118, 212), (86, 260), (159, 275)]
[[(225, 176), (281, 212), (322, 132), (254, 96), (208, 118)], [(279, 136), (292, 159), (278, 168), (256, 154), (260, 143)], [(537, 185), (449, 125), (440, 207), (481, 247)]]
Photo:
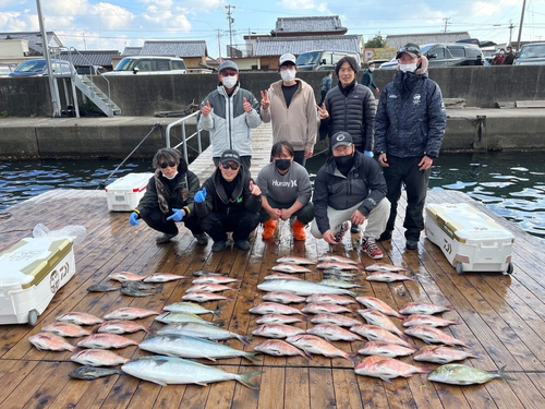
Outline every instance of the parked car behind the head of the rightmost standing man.
[[(422, 53), (429, 61), (429, 68), (489, 65), (483, 51), (475, 45), (452, 44), (425, 44), (420, 46)], [(392, 70), (397, 67), (397, 59), (380, 65), (380, 70)]]

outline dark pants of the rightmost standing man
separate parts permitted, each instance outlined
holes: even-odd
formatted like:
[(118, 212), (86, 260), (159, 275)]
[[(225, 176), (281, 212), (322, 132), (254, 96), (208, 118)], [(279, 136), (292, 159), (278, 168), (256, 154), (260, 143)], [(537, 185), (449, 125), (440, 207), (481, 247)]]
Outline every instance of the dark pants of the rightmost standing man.
[(390, 218), (386, 231), (391, 232), (396, 222), (398, 201), (401, 197), (402, 183), (407, 190), (407, 212), (403, 227), (405, 239), (419, 241), (420, 232), (424, 230), (424, 203), (426, 201), (427, 182), (431, 169), (420, 170), (422, 157), (398, 158), (388, 155), (389, 168), (383, 168), (388, 185), (386, 197), (390, 201)]

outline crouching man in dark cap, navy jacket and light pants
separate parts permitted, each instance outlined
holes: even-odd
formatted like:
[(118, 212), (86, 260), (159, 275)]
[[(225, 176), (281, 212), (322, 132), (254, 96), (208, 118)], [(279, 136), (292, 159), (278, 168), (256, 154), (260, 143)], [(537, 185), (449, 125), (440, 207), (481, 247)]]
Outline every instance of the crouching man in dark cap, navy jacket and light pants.
[(331, 137), (332, 156), (319, 169), (314, 182), (315, 221), (311, 232), (330, 244), (342, 241), (348, 220), (361, 226), (362, 252), (371, 258), (383, 258), (375, 241), (386, 227), (390, 203), (378, 164), (358, 152), (348, 132)]

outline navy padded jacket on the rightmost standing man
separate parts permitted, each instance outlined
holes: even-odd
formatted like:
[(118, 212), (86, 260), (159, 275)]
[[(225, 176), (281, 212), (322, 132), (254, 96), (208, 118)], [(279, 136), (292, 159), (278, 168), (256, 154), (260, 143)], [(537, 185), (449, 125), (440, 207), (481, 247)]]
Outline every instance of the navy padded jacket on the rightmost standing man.
[(447, 128), (439, 86), (427, 73), (398, 72), (380, 94), (375, 122), (377, 154), (436, 159)]

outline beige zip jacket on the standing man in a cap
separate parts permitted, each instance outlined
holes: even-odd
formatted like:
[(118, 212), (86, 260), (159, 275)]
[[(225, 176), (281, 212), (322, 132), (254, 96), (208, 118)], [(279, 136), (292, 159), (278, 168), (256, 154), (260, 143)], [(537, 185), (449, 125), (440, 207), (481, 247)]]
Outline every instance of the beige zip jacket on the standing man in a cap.
[(272, 143), (288, 141), (294, 151), (313, 149), (318, 129), (314, 89), (303, 80), (295, 81), (299, 88), (289, 108), (282, 93), (282, 80), (270, 85), (270, 106), (262, 108), (262, 121), (268, 123), (272, 120)]

